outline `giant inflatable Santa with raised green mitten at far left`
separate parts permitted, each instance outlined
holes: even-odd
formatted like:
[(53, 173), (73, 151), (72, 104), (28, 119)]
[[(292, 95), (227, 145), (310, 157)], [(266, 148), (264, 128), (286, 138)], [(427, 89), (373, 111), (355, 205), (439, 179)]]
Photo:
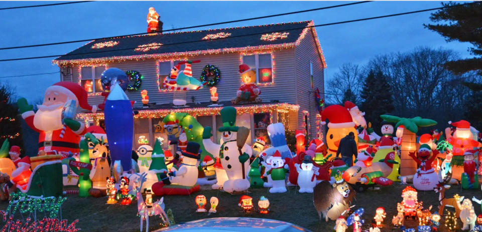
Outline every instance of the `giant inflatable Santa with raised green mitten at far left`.
[[(70, 101), (71, 100), (71, 101)], [(86, 133), (85, 124), (64, 117), (68, 111), (67, 105), (75, 101), (75, 106), (95, 112), (97, 107), (87, 102), (87, 92), (79, 84), (70, 81), (61, 81), (45, 90), (44, 102), (37, 105), (39, 110), (34, 112), (33, 106), (27, 99), (17, 101), (25, 122), (40, 133), (39, 151), (49, 153), (79, 152), (80, 135)], [(75, 116), (75, 115), (74, 115)]]

